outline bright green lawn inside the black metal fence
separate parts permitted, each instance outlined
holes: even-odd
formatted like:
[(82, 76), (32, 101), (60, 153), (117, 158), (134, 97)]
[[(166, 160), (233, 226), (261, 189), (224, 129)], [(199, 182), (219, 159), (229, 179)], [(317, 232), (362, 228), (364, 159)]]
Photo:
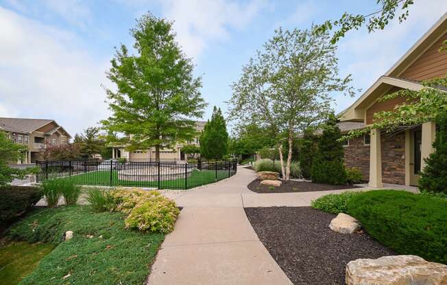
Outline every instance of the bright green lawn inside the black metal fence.
[[(228, 177), (228, 170), (218, 170), (217, 180)], [(118, 179), (118, 172), (112, 171), (112, 184), (110, 184), (110, 171), (90, 171), (71, 177), (61, 179), (71, 179), (81, 185), (97, 185), (97, 186), (139, 186), (139, 187), (158, 187), (158, 182), (143, 181), (125, 181)], [(210, 184), (216, 181), (216, 171), (198, 171), (193, 170), (187, 180), (187, 187), (193, 188), (204, 184)], [(160, 189), (184, 189), (185, 180), (173, 179), (160, 181)]]

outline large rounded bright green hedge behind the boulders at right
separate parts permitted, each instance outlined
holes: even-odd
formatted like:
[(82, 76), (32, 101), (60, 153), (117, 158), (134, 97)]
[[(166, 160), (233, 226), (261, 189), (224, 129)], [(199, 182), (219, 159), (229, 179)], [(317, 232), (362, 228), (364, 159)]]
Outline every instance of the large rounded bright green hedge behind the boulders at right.
[(348, 214), (400, 254), (447, 263), (447, 200), (404, 191), (374, 190), (352, 197)]

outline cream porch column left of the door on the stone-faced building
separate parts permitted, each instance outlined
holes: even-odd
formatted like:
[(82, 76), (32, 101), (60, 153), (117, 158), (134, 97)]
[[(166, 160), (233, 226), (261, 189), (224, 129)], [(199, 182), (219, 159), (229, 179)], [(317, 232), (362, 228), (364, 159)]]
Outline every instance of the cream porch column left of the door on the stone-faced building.
[(380, 151), (380, 129), (371, 130), (370, 143), (370, 187), (383, 187), (382, 153)]

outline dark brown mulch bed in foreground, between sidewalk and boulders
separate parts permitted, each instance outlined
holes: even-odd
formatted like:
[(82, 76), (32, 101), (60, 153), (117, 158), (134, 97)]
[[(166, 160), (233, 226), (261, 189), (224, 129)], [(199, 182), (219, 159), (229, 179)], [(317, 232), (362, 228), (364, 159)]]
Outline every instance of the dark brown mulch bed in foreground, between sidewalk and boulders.
[(351, 260), (396, 254), (364, 232), (333, 232), (328, 225), (335, 215), (310, 207), (245, 208), (245, 214), (295, 285), (345, 284)]

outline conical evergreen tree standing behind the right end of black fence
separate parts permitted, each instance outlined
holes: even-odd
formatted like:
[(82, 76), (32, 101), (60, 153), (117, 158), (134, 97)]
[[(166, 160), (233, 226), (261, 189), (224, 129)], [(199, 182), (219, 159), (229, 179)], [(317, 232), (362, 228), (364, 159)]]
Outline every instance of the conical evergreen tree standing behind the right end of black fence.
[(214, 107), (211, 121), (205, 124), (200, 136), (200, 153), (208, 159), (219, 160), (228, 153), (228, 132), (222, 112)]

